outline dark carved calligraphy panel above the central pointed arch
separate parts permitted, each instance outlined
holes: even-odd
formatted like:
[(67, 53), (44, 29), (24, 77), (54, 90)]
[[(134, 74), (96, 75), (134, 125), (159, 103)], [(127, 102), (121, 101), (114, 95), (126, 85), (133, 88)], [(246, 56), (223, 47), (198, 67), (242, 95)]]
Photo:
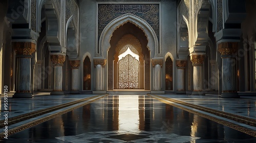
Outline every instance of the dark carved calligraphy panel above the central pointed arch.
[(159, 4), (98, 4), (98, 40), (103, 29), (115, 18), (131, 13), (144, 19), (159, 40)]

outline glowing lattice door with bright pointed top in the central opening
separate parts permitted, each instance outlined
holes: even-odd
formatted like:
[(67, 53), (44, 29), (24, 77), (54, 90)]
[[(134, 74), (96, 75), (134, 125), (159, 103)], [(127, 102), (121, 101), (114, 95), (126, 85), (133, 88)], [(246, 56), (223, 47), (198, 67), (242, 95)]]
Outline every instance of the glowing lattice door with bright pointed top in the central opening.
[(118, 56), (118, 88), (139, 88), (139, 55), (132, 52), (130, 47)]

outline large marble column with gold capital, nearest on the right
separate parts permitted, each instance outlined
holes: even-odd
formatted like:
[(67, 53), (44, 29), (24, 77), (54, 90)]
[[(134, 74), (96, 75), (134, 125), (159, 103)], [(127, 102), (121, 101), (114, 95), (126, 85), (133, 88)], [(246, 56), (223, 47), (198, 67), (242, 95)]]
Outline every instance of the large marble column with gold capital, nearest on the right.
[(222, 93), (221, 98), (240, 98), (237, 92), (236, 58), (238, 42), (222, 42), (218, 51), (222, 58)]

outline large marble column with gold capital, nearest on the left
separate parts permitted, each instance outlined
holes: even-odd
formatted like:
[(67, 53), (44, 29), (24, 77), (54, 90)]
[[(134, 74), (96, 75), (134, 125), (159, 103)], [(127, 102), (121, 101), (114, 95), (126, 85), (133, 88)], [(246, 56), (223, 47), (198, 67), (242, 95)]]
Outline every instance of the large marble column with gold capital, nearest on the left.
[(16, 88), (12, 98), (32, 98), (31, 58), (35, 52), (35, 43), (13, 42), (16, 52)]

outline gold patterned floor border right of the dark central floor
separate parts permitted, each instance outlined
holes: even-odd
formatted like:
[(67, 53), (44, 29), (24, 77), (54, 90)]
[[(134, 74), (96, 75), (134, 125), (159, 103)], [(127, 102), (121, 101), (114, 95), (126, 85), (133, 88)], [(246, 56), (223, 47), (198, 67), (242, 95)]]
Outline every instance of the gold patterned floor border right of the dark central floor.
[[(151, 97), (153, 97), (153, 98), (155, 98), (155, 99), (157, 99), (157, 100), (159, 100), (159, 101), (161, 101), (165, 104), (172, 105), (172, 106), (175, 106), (175, 107), (180, 108), (182, 110), (188, 111), (190, 113), (200, 115), (200, 116), (202, 116), (204, 118), (207, 118), (211, 121), (214, 121), (216, 123), (222, 124), (224, 126), (230, 127), (232, 129), (235, 129), (235, 130), (238, 130), (240, 132), (243, 132), (243, 133), (246, 133), (246, 134), (249, 134), (251, 136), (256, 137), (256, 131), (255, 130), (251, 130), (249, 128), (246, 128), (246, 127), (240, 126), (238, 124), (234, 124), (234, 123), (222, 120), (222, 119), (214, 117), (214, 116), (210, 116), (210, 115), (201, 113), (199, 111), (191, 110), (191, 109), (185, 108), (183, 106), (198, 109), (198, 110), (201, 110), (201, 111), (204, 111), (204, 112), (215, 114), (215, 115), (218, 115), (218, 116), (221, 116), (221, 117), (228, 118), (228, 119), (233, 120), (233, 121), (237, 121), (237, 122), (240, 122), (240, 123), (243, 123), (243, 124), (247, 124), (247, 125), (256, 127), (256, 120), (253, 119), (253, 118), (248, 118), (248, 117), (245, 117), (245, 116), (240, 116), (240, 115), (237, 115), (237, 114), (232, 114), (232, 113), (228, 113), (228, 112), (224, 112), (224, 111), (220, 111), (220, 110), (215, 110), (215, 109), (211, 109), (211, 108), (207, 108), (207, 107), (203, 107), (203, 106), (199, 106), (199, 105), (194, 105), (194, 104), (190, 104), (190, 103), (179, 101), (179, 100), (169, 99), (169, 98), (165, 98), (165, 97), (161, 97), (161, 96), (157, 96), (157, 95), (148, 94), (148, 96), (151, 96)], [(180, 105), (183, 105), (183, 106), (180, 106), (180, 105), (177, 105), (177, 104), (172, 104), (172, 103), (167, 102), (167, 101), (177, 103), (177, 104), (180, 104)]]

